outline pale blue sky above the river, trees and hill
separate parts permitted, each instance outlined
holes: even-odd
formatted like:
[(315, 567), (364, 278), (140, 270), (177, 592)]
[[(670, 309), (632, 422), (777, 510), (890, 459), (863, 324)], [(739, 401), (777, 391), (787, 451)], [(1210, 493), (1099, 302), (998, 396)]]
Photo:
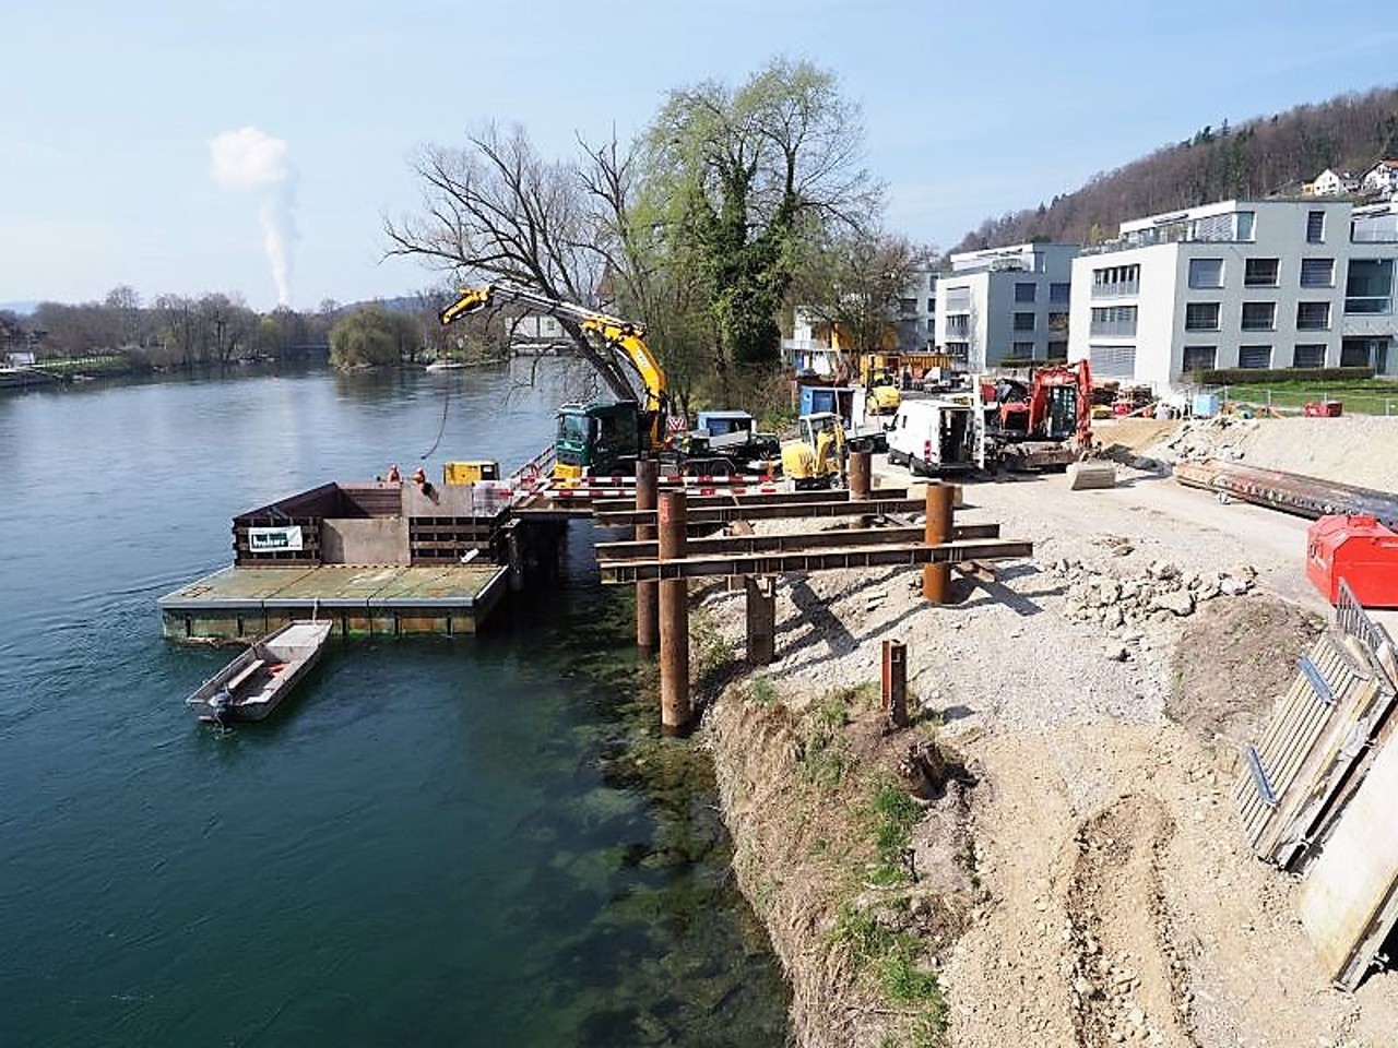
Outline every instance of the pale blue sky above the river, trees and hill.
[(774, 59), (836, 77), (885, 226), (945, 250), (1206, 124), (1395, 87), (1395, 53), (1371, 0), (3, 0), (0, 303), (436, 286), (386, 257), (421, 148), (519, 124), (573, 159)]

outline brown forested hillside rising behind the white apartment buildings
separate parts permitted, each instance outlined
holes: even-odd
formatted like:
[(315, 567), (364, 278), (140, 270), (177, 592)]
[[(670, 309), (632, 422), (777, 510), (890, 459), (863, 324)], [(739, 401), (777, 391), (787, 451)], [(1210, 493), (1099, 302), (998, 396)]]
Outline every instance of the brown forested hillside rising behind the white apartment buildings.
[(1398, 88), (1374, 88), (1258, 117), (1204, 127), (1075, 193), (1018, 214), (987, 218), (952, 252), (1053, 240), (1096, 243), (1123, 221), (1219, 200), (1299, 194), (1325, 168), (1362, 177), (1398, 157)]

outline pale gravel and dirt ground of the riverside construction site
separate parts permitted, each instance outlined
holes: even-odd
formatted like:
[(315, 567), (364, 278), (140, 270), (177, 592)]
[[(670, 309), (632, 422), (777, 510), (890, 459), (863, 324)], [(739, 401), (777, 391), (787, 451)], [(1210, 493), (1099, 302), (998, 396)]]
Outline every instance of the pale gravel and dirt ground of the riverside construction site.
[[(974, 780), (928, 805), (913, 841), (924, 889), (960, 907), (923, 959), (946, 999), (945, 1044), (1398, 1044), (1398, 973), (1355, 994), (1329, 985), (1297, 918), (1300, 882), (1251, 855), (1230, 798), (1240, 746), (1332, 615), (1304, 574), (1310, 521), (1219, 502), (1169, 471), (1216, 454), (1398, 490), (1398, 419), (1125, 421), (1097, 436), (1120, 464), (1111, 489), (1069, 490), (1064, 474), (965, 486), (958, 521), (1032, 539), (1032, 562), (953, 574), (951, 606), (921, 599), (917, 569), (788, 577), (777, 662), (761, 672), (800, 711), (851, 681), (877, 685), (882, 641), (902, 641), (910, 701)], [(875, 476), (909, 482), (878, 461)], [(714, 590), (703, 604), (741, 599)], [(741, 650), (741, 613), (710, 618)], [(741, 878), (779, 861), (783, 830), (755, 785), (759, 759), (733, 752), (752, 742), (733, 704), (713, 720)], [(881, 717), (853, 715), (847, 731), (861, 759), (892, 769), (907, 743), (870, 727)], [(970, 858), (945, 861), (949, 841)], [(885, 1040), (856, 991), (843, 1013), (819, 1002), (829, 925), (802, 912), (821, 893), (800, 882), (784, 871), (758, 905), (795, 985), (798, 1040), (905, 1042)], [(812, 964), (823, 975), (802, 971)]]

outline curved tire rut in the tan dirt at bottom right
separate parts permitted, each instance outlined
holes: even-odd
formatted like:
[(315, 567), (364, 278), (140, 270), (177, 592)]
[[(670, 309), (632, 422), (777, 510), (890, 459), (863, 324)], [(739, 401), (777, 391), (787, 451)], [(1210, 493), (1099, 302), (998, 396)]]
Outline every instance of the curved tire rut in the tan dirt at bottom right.
[(1068, 886), (1074, 1026), (1082, 1048), (1197, 1048), (1184, 966), (1160, 883), (1174, 833), (1160, 801), (1130, 795), (1085, 822)]

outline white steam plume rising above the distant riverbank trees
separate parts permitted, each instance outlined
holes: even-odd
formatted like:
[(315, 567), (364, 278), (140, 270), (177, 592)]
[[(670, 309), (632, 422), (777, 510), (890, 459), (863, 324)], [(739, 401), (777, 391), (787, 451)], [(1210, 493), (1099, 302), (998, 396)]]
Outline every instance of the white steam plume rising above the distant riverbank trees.
[(292, 214), (296, 179), (284, 138), (273, 138), (256, 127), (224, 131), (208, 143), (214, 182), (224, 189), (250, 190), (260, 203), (257, 219), (263, 246), (277, 284), (277, 305), (291, 305), (291, 249), (296, 238)]

